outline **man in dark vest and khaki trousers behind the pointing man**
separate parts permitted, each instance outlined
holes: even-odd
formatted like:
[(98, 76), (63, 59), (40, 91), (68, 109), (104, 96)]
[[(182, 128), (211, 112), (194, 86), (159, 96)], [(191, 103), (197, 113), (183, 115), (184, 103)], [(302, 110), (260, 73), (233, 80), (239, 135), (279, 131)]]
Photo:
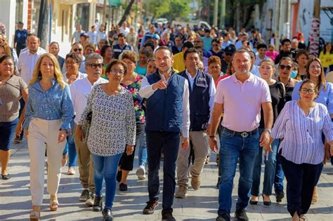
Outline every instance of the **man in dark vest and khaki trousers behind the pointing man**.
[(179, 73), (188, 80), (190, 88), (190, 133), (195, 160), (190, 168), (190, 149), (179, 149), (177, 161), (178, 191), (176, 198), (184, 198), (188, 194), (188, 173), (192, 175), (193, 189), (200, 188), (200, 173), (204, 167), (209, 145), (206, 139), (211, 110), (214, 107), (216, 92), (214, 80), (210, 74), (199, 69), (200, 57), (195, 48), (184, 53), (185, 71)]

